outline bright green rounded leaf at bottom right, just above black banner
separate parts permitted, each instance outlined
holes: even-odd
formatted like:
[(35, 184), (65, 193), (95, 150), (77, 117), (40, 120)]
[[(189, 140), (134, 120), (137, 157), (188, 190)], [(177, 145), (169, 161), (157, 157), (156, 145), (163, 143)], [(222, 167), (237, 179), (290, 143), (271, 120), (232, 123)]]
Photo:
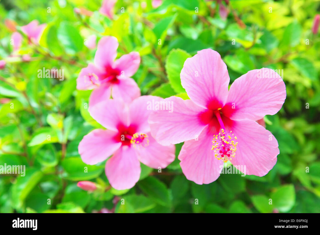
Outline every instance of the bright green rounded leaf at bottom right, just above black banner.
[(271, 193), (270, 198), (272, 199), (274, 207), (280, 212), (288, 212), (296, 201), (293, 184), (279, 187), (276, 192)]

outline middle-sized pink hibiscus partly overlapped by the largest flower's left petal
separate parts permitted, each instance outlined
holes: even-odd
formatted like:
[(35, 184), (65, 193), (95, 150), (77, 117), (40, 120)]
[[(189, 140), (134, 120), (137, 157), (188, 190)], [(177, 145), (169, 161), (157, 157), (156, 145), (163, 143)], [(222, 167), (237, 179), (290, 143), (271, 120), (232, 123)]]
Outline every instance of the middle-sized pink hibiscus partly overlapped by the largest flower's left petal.
[(93, 165), (107, 160), (106, 175), (117, 190), (132, 188), (140, 178), (140, 161), (151, 168), (165, 168), (175, 158), (175, 146), (162, 146), (150, 135), (148, 101), (156, 96), (140, 96), (129, 105), (108, 99), (89, 106), (89, 113), (102, 126), (81, 140), (78, 151), (82, 161)]

